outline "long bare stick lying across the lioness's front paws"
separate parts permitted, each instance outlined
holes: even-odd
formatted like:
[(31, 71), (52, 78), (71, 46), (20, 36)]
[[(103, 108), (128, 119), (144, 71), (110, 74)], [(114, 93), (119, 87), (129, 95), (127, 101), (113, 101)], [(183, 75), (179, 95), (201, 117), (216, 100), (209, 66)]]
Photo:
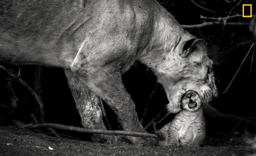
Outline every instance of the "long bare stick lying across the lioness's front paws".
[(76, 132), (83, 132), (83, 133), (96, 133), (96, 134), (110, 134), (110, 135), (124, 135), (124, 136), (137, 136), (137, 137), (152, 137), (158, 138), (155, 134), (150, 133), (140, 133), (140, 132), (127, 132), (127, 131), (118, 131), (118, 130), (92, 130), (80, 127), (73, 127), (73, 126), (66, 126), (61, 124), (52, 124), (52, 123), (43, 123), (43, 124), (36, 124), (36, 125), (25, 125), (23, 128), (27, 129), (38, 129), (44, 127), (51, 127), (60, 130), (69, 130), (69, 131), (76, 131)]

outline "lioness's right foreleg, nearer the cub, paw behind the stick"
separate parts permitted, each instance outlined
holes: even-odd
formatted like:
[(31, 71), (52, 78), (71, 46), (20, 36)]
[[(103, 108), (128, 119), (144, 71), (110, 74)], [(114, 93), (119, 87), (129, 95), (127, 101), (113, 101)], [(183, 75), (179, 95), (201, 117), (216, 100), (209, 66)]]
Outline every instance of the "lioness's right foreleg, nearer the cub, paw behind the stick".
[[(88, 72), (86, 76), (80, 75), (79, 78), (114, 110), (118, 117), (118, 122), (125, 131), (144, 132), (138, 120), (135, 104), (122, 83), (119, 71), (101, 68), (93, 73)], [(136, 144), (156, 144), (156, 141), (151, 138), (129, 136), (127, 139)]]

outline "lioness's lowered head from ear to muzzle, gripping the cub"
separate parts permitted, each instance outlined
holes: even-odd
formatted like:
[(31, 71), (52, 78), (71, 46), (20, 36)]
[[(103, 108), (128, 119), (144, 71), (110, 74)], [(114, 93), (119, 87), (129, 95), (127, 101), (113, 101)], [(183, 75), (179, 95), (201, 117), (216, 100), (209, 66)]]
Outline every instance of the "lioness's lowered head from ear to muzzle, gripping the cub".
[(168, 56), (170, 66), (158, 72), (158, 81), (164, 86), (170, 112), (181, 110), (181, 101), (187, 91), (195, 91), (203, 103), (217, 96), (212, 62), (207, 56), (206, 41), (184, 38)]

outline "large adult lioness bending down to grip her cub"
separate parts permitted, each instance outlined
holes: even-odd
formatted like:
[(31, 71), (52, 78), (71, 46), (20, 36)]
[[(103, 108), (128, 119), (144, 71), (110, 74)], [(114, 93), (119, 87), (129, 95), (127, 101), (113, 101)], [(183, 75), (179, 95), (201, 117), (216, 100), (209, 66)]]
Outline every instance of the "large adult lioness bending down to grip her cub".
[[(206, 51), (206, 42), (185, 31), (155, 0), (0, 0), (0, 62), (63, 68), (87, 128), (106, 129), (101, 97), (124, 130), (144, 132), (121, 80), (136, 60), (164, 86), (169, 112), (181, 110), (188, 90), (203, 102), (212, 100), (217, 89)], [(97, 136), (94, 141), (115, 139)]]

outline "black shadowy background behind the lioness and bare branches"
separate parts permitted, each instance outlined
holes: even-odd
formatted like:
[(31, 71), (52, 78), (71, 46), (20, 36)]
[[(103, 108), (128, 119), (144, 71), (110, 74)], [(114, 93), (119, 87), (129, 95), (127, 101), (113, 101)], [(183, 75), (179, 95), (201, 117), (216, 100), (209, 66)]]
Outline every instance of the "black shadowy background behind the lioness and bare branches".
[[(225, 0), (194, 1), (198, 5), (216, 13), (196, 6), (191, 0), (161, 0), (159, 2), (167, 9), (167, 11), (173, 14), (181, 25), (194, 25), (204, 22), (218, 21), (201, 19), (201, 15), (204, 17), (217, 18), (226, 17), (228, 15), (241, 15), (242, 4), (252, 4), (252, 13), (255, 14), (256, 12), (256, 2), (254, 0), (235, 0), (229, 3)], [(240, 4), (237, 5), (239, 2)], [(231, 11), (232, 8), (234, 9)], [(245, 14), (249, 14), (249, 11), (246, 10)], [(250, 21), (251, 18), (235, 17), (228, 19), (226, 22), (248, 23)], [(223, 22), (223, 20), (220, 20), (220, 22)], [(255, 36), (249, 31), (248, 26), (239, 25), (213, 25), (186, 30), (196, 37), (203, 38), (207, 41), (209, 48), (208, 55), (214, 61), (214, 73), (217, 88), (220, 93), (224, 92), (241, 65), (250, 46), (255, 42)], [(252, 48), (248, 57), (245, 59), (244, 64), (241, 66), (227, 92), (220, 94), (218, 98), (215, 98), (211, 102), (211, 105), (219, 112), (238, 115), (245, 118), (256, 117), (256, 62), (255, 55), (253, 57), (253, 51), (254, 48)], [(17, 73), (19, 69), (21, 69), (22, 79), (27, 84), (32, 88), (38, 88), (39, 86), (39, 90), (37, 91), (42, 97), (47, 122), (82, 127), (81, 119), (67, 84), (67, 79), (61, 68), (39, 67), (36, 65), (1, 65)], [(41, 70), (38, 70), (38, 68)], [(41, 74), (39, 82), (35, 81), (35, 75), (38, 76), (38, 73)], [(18, 109), (12, 116), (8, 116), (11, 107), (11, 99), (9, 98), (10, 96), (6, 89), (6, 82), (4, 72), (0, 71), (0, 118), (4, 119), (1, 124), (10, 125), (12, 124), (12, 119), (17, 119), (26, 124), (31, 123), (32, 120), (30, 114), (34, 113), (38, 117), (38, 107), (30, 94), (28, 94), (24, 88), (17, 85), (15, 81), (13, 81), (13, 87), (19, 99)], [(127, 73), (123, 74), (123, 83), (136, 104), (139, 119), (142, 117), (146, 104), (148, 106), (148, 112), (146, 119), (143, 121), (143, 126), (147, 125), (168, 103), (161, 85), (156, 87), (156, 77), (152, 71), (143, 64), (140, 64), (140, 62), (136, 62)], [(154, 90), (155, 94), (150, 98), (150, 95)], [(104, 107), (108, 118), (111, 121), (112, 129), (120, 129), (113, 111), (106, 104), (104, 104)], [(164, 122), (157, 125), (157, 128), (161, 128), (161, 126), (166, 124), (166, 122), (169, 122), (173, 116), (174, 115), (172, 114), (169, 115)], [(234, 128), (234, 125), (229, 124), (229, 122), (219, 124), (217, 120), (214, 120), (211, 117), (206, 116), (206, 119), (207, 133), (215, 133), (217, 131), (224, 133)], [(244, 128), (241, 129), (244, 130)], [(153, 133), (152, 127), (148, 131)], [(253, 133), (255, 131), (252, 130), (251, 132)], [(79, 134), (70, 132), (67, 134), (79, 137)]]

